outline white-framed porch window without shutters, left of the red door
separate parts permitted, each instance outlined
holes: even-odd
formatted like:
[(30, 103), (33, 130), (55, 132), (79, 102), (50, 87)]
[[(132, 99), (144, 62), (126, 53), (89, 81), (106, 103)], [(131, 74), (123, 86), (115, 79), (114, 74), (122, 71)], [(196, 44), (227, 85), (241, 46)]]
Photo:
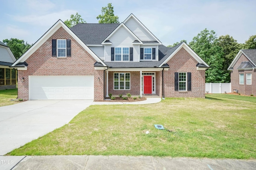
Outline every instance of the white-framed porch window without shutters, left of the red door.
[(130, 73), (114, 73), (114, 90), (130, 90)]

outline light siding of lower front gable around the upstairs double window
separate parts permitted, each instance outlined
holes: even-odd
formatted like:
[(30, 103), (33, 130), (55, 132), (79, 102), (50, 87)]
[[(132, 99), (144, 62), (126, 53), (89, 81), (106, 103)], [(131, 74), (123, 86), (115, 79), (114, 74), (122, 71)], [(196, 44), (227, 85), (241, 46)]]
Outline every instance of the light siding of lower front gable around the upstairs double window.
[(135, 38), (124, 27), (120, 27), (109, 40), (112, 45), (105, 45), (106, 62), (111, 61), (111, 47), (133, 47), (133, 61), (139, 61), (139, 45), (132, 45)]

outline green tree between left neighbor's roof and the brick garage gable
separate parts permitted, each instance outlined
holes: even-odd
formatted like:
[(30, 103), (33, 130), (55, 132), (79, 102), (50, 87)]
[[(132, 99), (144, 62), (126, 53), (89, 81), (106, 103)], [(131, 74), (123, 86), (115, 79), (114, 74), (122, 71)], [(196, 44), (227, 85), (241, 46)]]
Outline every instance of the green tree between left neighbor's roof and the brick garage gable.
[(22, 54), (24, 54), (31, 47), (31, 45), (28, 44), (27, 42), (24, 43), (23, 39), (22, 40), (16, 39), (16, 38), (4, 39), (3, 43), (5, 43), (10, 47), (10, 50), (12, 51), (16, 59), (22, 56)]

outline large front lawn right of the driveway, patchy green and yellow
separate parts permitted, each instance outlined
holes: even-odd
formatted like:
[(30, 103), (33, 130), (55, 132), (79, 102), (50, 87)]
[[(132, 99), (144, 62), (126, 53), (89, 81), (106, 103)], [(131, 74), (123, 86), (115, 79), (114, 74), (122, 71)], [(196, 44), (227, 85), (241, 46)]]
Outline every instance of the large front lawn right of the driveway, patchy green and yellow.
[(255, 97), (206, 96), (90, 106), (67, 125), (8, 155), (256, 158)]

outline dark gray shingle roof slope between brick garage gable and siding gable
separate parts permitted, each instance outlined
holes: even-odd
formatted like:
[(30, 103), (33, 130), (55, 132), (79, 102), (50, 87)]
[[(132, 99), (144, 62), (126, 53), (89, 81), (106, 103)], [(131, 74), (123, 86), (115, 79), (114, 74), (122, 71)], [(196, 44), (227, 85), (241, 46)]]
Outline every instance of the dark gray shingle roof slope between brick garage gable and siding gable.
[(86, 44), (101, 45), (119, 23), (78, 23), (70, 29)]

